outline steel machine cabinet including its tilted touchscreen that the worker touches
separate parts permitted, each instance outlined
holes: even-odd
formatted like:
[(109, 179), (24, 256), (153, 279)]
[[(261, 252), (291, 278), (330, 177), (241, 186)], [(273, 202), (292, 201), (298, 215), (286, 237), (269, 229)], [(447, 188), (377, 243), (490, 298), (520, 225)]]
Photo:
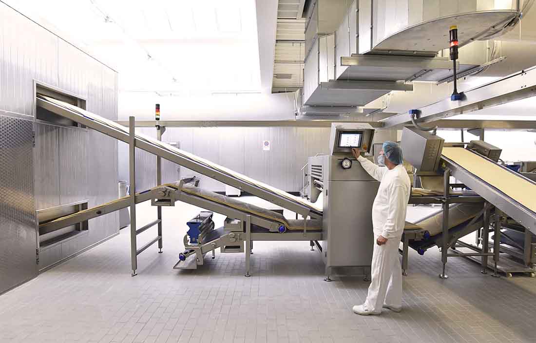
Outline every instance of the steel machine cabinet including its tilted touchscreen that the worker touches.
[(318, 249), (326, 264), (326, 281), (331, 281), (334, 267), (363, 267), (367, 276), (374, 239), (371, 211), (379, 182), (353, 158), (351, 148), (370, 153), (373, 137), (368, 124), (333, 123), (330, 154), (308, 161), (311, 201), (323, 204)]

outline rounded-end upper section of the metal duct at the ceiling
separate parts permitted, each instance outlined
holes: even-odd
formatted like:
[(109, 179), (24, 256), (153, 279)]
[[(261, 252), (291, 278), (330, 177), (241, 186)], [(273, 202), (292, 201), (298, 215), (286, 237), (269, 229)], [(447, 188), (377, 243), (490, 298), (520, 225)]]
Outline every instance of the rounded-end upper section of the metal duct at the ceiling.
[(458, 26), (460, 46), (500, 34), (518, 17), (516, 0), (360, 0), (359, 53), (435, 56)]

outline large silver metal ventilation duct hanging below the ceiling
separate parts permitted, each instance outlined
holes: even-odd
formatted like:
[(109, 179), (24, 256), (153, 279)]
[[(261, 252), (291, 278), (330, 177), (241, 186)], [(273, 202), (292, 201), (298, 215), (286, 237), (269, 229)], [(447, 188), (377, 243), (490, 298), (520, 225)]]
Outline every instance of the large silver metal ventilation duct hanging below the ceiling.
[[(367, 103), (366, 108), (397, 112), (394, 109), (402, 105), (397, 105), (402, 99), (406, 106), (410, 99), (433, 102), (443, 98), (443, 93), (452, 92), (446, 84), (452, 81), (448, 51), (452, 25), (458, 27), (461, 47), (457, 63), (459, 78), (505, 76), (529, 68), (534, 65), (536, 50), (536, 13), (533, 14), (536, 10), (528, 11), (534, 2), (360, 0), (344, 11), (333, 33), (326, 31), (326, 20), (323, 20), (333, 14), (333, 9), (323, 13), (322, 1), (317, 0), (309, 11), (306, 25), (303, 104), (364, 106)], [(520, 18), (526, 23), (523, 31), (516, 25)], [(502, 40), (506, 36), (509, 39)], [(383, 85), (379, 86), (378, 81)], [(390, 92), (412, 90), (402, 86), (412, 81), (434, 81), (434, 84), (413, 88), (413, 92)], [(426, 96), (413, 94), (419, 91), (425, 91)], [(389, 94), (396, 96), (385, 100)], [(384, 106), (378, 107), (378, 103)]]

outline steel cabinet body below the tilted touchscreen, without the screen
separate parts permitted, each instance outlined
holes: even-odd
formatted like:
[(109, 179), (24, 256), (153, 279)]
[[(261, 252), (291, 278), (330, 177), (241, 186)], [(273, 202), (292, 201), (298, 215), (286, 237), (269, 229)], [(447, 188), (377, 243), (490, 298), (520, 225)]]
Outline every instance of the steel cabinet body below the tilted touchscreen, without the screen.
[(370, 267), (373, 251), (372, 205), (379, 182), (354, 158), (343, 169), (344, 155), (309, 158), (311, 182), (323, 183), (322, 257), (326, 275), (333, 267)]

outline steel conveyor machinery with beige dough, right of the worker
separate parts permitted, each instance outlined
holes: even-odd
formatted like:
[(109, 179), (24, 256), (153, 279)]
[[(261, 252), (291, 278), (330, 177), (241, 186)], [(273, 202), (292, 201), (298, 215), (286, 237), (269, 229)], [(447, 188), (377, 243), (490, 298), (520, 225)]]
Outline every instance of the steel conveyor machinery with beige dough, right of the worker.
[[(423, 176), (428, 178), (428, 183), (432, 185), (437, 185), (439, 181), (438, 189), (434, 189), (439, 191), (437, 195), (412, 195), (410, 203), (437, 203), (443, 206), (440, 212), (417, 222), (416, 226), (420, 228), (407, 227), (405, 230), (403, 269), (407, 268), (408, 244), (421, 255), (426, 249), (437, 245), (442, 248), (442, 278), (447, 277), (447, 258), (455, 256), (477, 260), (482, 264), (483, 273), (486, 273), (488, 267), (492, 267), (495, 270), (494, 275), (501, 271), (507, 275), (511, 272), (523, 272), (533, 276), (534, 270), (530, 267), (512, 266), (507, 260), (499, 259), (500, 252), (505, 251), (500, 246), (501, 229), (504, 228), (505, 220), (514, 220), (526, 229), (527, 234), (536, 232), (536, 203), (530, 196), (536, 191), (536, 182), (497, 163), (501, 154), (500, 148), (480, 140), (454, 145), (444, 144), (442, 148), (437, 148), (438, 139), (418, 129), (403, 130), (402, 148), (405, 159), (415, 163), (421, 181)], [(465, 145), (467, 146), (464, 148)], [(451, 183), (450, 176), (458, 183)], [(456, 188), (471, 191), (455, 191)], [(490, 241), (489, 232), (492, 231), (494, 239)], [(459, 240), (471, 232), (477, 232), (477, 245)], [(529, 242), (531, 241), (528, 240), (527, 244)], [(490, 252), (490, 247), (493, 247), (493, 253)], [(493, 262), (489, 257), (493, 257)], [(525, 261), (527, 260), (530, 259), (526, 258)]]

